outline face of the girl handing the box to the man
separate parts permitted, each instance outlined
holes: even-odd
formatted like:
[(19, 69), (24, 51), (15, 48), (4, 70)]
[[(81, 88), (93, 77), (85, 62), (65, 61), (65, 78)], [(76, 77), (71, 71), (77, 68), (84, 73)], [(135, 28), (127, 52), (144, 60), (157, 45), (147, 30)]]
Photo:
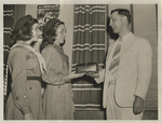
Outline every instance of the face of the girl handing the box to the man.
[(55, 38), (55, 43), (57, 45), (60, 45), (64, 43), (66, 37), (66, 27), (64, 24), (59, 25), (57, 30), (56, 30), (56, 38)]

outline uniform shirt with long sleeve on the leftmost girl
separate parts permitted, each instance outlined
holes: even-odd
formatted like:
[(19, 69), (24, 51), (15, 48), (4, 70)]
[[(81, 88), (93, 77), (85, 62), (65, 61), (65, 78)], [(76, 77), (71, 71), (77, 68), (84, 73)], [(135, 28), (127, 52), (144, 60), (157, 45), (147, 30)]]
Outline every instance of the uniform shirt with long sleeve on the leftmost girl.
[[(29, 45), (24, 41), (17, 44)], [(9, 54), (9, 69), (12, 76), (12, 94), (15, 106), (25, 114), (30, 112), (30, 96), (27, 88), (27, 77), (40, 77), (37, 56), (25, 46), (17, 45)]]

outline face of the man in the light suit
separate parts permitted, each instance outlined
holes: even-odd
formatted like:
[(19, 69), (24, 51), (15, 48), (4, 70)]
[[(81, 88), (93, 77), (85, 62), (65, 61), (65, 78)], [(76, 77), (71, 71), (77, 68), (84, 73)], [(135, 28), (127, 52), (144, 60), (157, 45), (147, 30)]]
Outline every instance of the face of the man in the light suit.
[(124, 27), (123, 16), (119, 15), (118, 12), (113, 12), (110, 16), (110, 26), (114, 33), (120, 33)]

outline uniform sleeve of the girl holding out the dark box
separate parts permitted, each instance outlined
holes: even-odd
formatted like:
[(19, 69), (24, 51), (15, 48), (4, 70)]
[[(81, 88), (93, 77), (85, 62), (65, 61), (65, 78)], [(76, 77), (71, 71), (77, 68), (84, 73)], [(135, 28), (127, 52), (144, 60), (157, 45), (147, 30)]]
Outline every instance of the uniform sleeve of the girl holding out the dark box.
[(42, 74), (42, 80), (50, 84), (64, 84), (70, 80), (65, 77), (64, 71), (58, 70), (57, 65), (62, 64), (58, 60), (58, 55), (52, 47), (44, 49), (42, 51), (42, 57), (45, 60), (46, 73)]

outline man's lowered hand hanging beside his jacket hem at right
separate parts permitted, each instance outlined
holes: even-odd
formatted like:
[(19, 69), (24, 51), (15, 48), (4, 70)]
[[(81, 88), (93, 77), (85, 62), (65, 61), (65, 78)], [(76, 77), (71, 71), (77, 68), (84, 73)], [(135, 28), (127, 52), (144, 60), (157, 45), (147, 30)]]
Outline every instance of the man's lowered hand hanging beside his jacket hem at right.
[(135, 97), (135, 100), (133, 102), (133, 113), (139, 114), (144, 111), (144, 99), (139, 96)]

